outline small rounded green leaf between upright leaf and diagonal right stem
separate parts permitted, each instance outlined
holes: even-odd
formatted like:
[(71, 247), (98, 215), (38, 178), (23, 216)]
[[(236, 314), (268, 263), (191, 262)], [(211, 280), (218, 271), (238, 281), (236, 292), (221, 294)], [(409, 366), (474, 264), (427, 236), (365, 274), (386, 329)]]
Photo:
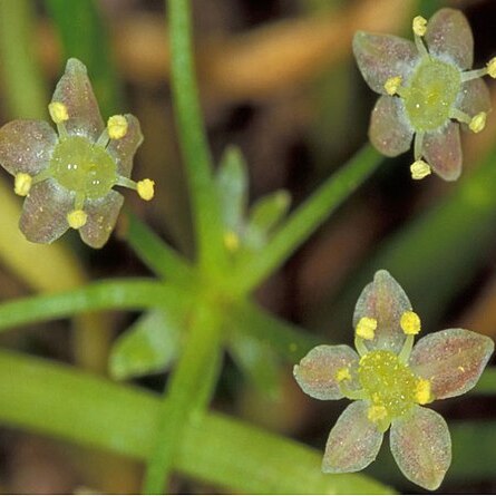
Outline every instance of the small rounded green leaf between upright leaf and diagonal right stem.
[(253, 249), (261, 249), (268, 241), (271, 231), (282, 221), (291, 204), (290, 194), (276, 191), (263, 196), (251, 208), (249, 225), (245, 234), (246, 244)]

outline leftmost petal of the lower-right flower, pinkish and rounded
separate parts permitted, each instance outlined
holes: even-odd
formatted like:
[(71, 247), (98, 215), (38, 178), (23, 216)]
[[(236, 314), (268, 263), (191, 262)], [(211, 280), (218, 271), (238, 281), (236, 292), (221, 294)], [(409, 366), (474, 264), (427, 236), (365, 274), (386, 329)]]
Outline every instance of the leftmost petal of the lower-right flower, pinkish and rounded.
[(346, 344), (321, 344), (294, 366), (293, 373), (303, 391), (317, 399), (343, 398), (335, 380), (339, 369), (358, 364), (358, 354)]

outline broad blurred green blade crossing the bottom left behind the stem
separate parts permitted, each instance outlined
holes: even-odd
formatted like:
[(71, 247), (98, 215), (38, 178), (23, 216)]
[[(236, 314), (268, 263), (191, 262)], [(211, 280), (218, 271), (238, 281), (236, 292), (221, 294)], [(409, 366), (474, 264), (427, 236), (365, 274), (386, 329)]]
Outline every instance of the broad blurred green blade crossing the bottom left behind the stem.
[[(161, 409), (155, 395), (136, 387), (0, 350), (3, 426), (144, 460), (156, 439)], [(389, 490), (363, 475), (322, 474), (321, 456), (291, 439), (208, 414), (186, 425), (175, 468), (234, 493)]]

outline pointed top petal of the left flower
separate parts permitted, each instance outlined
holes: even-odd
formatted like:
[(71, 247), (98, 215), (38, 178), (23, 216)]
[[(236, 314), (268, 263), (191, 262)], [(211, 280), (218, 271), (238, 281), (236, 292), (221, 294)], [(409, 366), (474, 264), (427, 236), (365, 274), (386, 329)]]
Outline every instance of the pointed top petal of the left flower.
[(70, 134), (96, 140), (104, 130), (104, 121), (86, 66), (78, 59), (67, 61), (66, 71), (57, 84), (51, 101), (60, 101), (67, 106), (69, 119), (65, 125)]

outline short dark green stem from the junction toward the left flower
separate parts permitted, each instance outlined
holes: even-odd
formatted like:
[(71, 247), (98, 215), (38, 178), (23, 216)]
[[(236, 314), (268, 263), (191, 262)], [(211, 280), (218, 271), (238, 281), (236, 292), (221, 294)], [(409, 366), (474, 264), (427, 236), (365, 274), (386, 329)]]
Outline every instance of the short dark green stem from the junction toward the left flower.
[(194, 271), (188, 262), (162, 241), (133, 212), (127, 211), (126, 240), (152, 271), (159, 278), (181, 285), (191, 284)]

